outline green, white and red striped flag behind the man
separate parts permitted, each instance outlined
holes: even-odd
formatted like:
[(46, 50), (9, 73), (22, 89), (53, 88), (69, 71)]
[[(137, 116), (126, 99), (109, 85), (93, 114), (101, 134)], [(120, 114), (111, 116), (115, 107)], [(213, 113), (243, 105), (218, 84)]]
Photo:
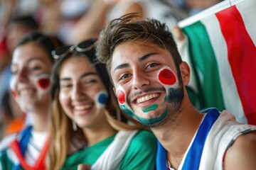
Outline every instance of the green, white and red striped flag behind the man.
[(188, 38), (191, 101), (256, 125), (256, 1), (222, 1), (178, 26)]

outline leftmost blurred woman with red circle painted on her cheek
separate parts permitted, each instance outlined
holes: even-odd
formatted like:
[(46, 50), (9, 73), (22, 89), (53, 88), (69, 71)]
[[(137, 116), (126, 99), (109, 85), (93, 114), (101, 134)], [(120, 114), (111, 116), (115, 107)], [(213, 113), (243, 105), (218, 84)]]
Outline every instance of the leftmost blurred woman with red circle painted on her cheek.
[(63, 45), (58, 38), (31, 33), (23, 37), (11, 61), (11, 92), (33, 126), (1, 142), (0, 169), (46, 169), (50, 130), (51, 51)]

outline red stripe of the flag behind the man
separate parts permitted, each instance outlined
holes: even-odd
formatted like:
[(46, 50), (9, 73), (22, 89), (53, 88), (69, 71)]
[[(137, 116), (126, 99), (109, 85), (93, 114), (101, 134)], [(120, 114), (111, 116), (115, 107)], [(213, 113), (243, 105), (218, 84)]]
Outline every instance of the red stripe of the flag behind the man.
[(228, 60), (247, 122), (256, 125), (256, 47), (236, 6), (220, 11), (216, 16), (228, 46)]

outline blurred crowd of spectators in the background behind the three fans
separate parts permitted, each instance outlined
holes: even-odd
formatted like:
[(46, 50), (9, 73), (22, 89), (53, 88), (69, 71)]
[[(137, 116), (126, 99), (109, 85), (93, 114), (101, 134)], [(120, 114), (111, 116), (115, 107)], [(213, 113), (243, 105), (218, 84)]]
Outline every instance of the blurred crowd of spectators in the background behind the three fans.
[(0, 1), (0, 139), (31, 124), (10, 91), (10, 63), (18, 40), (32, 32), (55, 35), (76, 44), (97, 37), (113, 18), (138, 13), (169, 28), (220, 0), (1, 0)]

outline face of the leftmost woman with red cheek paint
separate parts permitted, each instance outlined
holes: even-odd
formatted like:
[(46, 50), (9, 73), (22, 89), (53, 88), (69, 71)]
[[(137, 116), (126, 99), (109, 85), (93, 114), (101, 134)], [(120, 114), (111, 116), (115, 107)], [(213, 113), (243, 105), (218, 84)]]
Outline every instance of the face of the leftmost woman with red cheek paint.
[(28, 42), (16, 47), (11, 62), (11, 91), (23, 112), (50, 103), (50, 70), (53, 63), (42, 47)]

